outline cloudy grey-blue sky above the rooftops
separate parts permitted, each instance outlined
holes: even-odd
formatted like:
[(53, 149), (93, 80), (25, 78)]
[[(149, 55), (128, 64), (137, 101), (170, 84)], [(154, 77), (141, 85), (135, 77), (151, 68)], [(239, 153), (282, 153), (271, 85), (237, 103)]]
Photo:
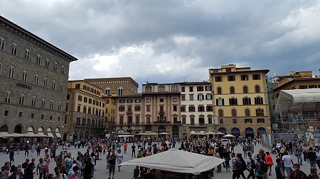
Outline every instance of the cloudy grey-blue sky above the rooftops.
[(1, 16), (78, 58), (70, 80), (208, 80), (223, 64), (268, 76), (320, 69), (320, 0), (1, 0)]

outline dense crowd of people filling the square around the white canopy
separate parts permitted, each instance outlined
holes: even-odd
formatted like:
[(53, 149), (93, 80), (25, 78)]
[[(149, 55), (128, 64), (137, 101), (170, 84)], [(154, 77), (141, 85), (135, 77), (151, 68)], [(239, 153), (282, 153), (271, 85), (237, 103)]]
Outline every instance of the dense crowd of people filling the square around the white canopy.
[[(1, 167), (0, 179), (33, 179), (38, 176), (39, 179), (89, 179), (95, 174), (95, 166), (98, 160), (102, 160), (105, 155), (107, 161), (106, 169), (109, 171), (109, 178), (114, 178), (114, 171), (121, 171), (121, 164), (124, 160), (124, 154), (127, 154), (128, 148), (131, 148), (132, 158), (148, 157), (169, 149), (176, 149), (207, 156), (223, 158), (224, 163), (213, 168), (216, 173), (232, 173), (232, 178), (258, 178), (265, 179), (272, 175), (272, 170), (276, 175), (272, 178), (277, 179), (319, 179), (316, 165), (320, 168), (320, 151), (318, 147), (310, 147), (306, 144), (292, 144), (292, 142), (275, 142), (272, 151), (256, 149), (260, 139), (233, 139), (228, 143), (223, 143), (221, 139), (211, 139), (210, 141), (193, 140), (189, 142), (179, 142), (176, 146), (174, 140), (164, 140), (163, 142), (153, 142), (151, 139), (136, 139), (130, 146), (127, 139), (95, 139), (87, 141), (77, 141), (72, 144), (65, 142), (59, 149), (58, 143), (40, 147), (38, 144), (19, 144), (24, 146), (24, 155), (26, 161), (17, 166), (11, 165), (14, 162), (14, 149), (9, 149), (9, 161)], [(70, 147), (75, 149), (86, 148), (86, 152), (74, 156), (70, 153)], [(235, 146), (241, 146), (242, 153), (235, 154)], [(122, 153), (122, 148), (124, 153)], [(41, 149), (44, 150), (41, 156)], [(31, 150), (31, 154), (29, 154)], [(19, 154), (20, 150), (16, 150)], [(56, 154), (56, 151), (60, 151)], [(136, 152), (137, 151), (137, 152)], [(255, 154), (255, 151), (257, 154)], [(6, 154), (5, 153), (5, 154)], [(272, 158), (272, 155), (275, 156)], [(297, 163), (293, 162), (292, 156), (297, 156)], [(36, 161), (34, 156), (41, 158)], [(29, 156), (31, 158), (29, 158)], [(243, 157), (242, 157), (243, 156)], [(308, 175), (300, 170), (304, 163), (310, 165)], [(50, 173), (49, 166), (55, 165), (54, 173)], [(292, 169), (293, 168), (293, 169)], [(134, 178), (148, 173), (150, 168), (134, 168)], [(247, 176), (245, 175), (245, 171)]]

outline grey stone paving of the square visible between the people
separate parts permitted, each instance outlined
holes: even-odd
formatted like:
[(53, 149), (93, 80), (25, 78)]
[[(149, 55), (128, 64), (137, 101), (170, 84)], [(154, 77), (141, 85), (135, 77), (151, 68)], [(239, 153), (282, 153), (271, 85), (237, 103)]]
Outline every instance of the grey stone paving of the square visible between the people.
[[(124, 161), (129, 161), (131, 159), (134, 159), (134, 158), (131, 157), (131, 146), (132, 146), (132, 144), (129, 143), (128, 144), (128, 152), (127, 152), (127, 154), (124, 154)], [(180, 146), (180, 144), (176, 144), (176, 146)], [(258, 149), (261, 149), (261, 148), (265, 149), (265, 151), (270, 151), (270, 149), (266, 149), (266, 148), (262, 147), (261, 145), (257, 145), (255, 147), (255, 154), (257, 154)], [(58, 151), (60, 152), (61, 150), (62, 150), (62, 146), (59, 146)], [(82, 153), (84, 153), (85, 150), (86, 150), (85, 148), (75, 149), (74, 146), (70, 147), (70, 152), (74, 156), (77, 156), (77, 152), (78, 151), (81, 151)], [(122, 152), (123, 152), (123, 147), (122, 147)], [(242, 153), (242, 148), (240, 146), (236, 146), (235, 147), (235, 153), (240, 153), (240, 152)], [(23, 163), (26, 160), (26, 157), (24, 156), (24, 151), (20, 151), (20, 154), (16, 154), (16, 153), (17, 152), (15, 151), (14, 164), (16, 165), (18, 163)], [(40, 157), (43, 157), (43, 156), (44, 156), (44, 149), (42, 149), (42, 151), (41, 151), (41, 156), (35, 156), (36, 164), (38, 164), (38, 159)], [(95, 167), (96, 171), (95, 171), (95, 175), (94, 175), (93, 178), (105, 178), (105, 179), (107, 179), (109, 177), (109, 171), (107, 171), (105, 169), (106, 166), (107, 166), (107, 162), (105, 160), (105, 156), (106, 155), (102, 155), (102, 160), (101, 161), (97, 161), (97, 166)], [(291, 156), (292, 156), (292, 159), (293, 159), (294, 163), (296, 163), (297, 162), (297, 157), (294, 156), (294, 155), (291, 155)], [(32, 158), (31, 157), (31, 151), (29, 151), (29, 157), (28, 158)], [(272, 155), (272, 159), (273, 159), (273, 161), (275, 163), (275, 156), (274, 155)], [(0, 165), (3, 166), (5, 161), (9, 161), (9, 154), (0, 154)], [(304, 171), (304, 173), (306, 173), (306, 175), (309, 175), (309, 168), (310, 168), (309, 163), (305, 163), (303, 161), (303, 164), (304, 164), (304, 166), (301, 166), (301, 170)], [(49, 167), (49, 169), (50, 169), (49, 173), (54, 173), (53, 172), (53, 168), (55, 168), (55, 161), (51, 161), (50, 167)], [(230, 172), (230, 173), (229, 172), (225, 172), (223, 169), (222, 169), (223, 172), (221, 172), (221, 173), (214, 173), (215, 178), (231, 178), (232, 172)], [(115, 174), (114, 174), (114, 178), (115, 179), (132, 178), (133, 170), (134, 170), (134, 166), (122, 166), (121, 167), (121, 171), (119, 172), (119, 171), (117, 171), (117, 166), (116, 166), (116, 171), (115, 171)], [(245, 171), (245, 175), (246, 176), (248, 175), (247, 171)], [(38, 178), (38, 176), (35, 176), (35, 179), (36, 178)], [(272, 175), (268, 176), (268, 178), (275, 178), (274, 166), (272, 167)]]

